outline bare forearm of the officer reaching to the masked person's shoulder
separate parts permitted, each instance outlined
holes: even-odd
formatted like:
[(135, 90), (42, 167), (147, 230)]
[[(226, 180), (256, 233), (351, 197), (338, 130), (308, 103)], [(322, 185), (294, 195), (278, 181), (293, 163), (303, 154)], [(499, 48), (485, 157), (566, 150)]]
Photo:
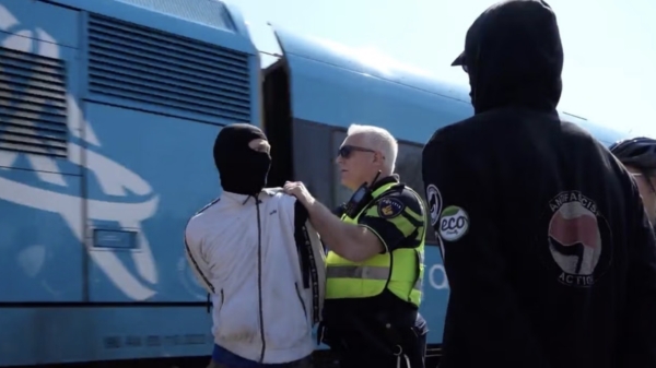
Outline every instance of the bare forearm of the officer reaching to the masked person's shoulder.
[(352, 262), (362, 262), (385, 250), (374, 233), (363, 226), (343, 223), (330, 210), (312, 199), (306, 204), (309, 222), (330, 250)]

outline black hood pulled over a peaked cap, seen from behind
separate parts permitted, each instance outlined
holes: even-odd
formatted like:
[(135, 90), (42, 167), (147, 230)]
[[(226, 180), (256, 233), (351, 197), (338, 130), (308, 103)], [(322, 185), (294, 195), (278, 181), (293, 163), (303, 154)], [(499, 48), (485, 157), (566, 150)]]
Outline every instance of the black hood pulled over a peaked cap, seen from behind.
[(543, 0), (499, 2), (469, 27), (453, 66), (469, 74), (476, 114), (506, 106), (554, 110), (563, 70), (555, 14)]

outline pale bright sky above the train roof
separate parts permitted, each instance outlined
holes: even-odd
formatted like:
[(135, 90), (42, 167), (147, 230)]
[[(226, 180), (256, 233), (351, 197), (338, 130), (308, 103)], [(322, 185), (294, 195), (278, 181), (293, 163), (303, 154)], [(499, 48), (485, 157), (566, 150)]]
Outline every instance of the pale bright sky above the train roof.
[[(261, 51), (280, 54), (268, 25), (368, 49), (468, 86), (450, 62), (493, 0), (232, 0)], [(559, 109), (656, 138), (656, 1), (548, 0), (563, 39)], [(262, 58), (270, 62), (270, 58)]]

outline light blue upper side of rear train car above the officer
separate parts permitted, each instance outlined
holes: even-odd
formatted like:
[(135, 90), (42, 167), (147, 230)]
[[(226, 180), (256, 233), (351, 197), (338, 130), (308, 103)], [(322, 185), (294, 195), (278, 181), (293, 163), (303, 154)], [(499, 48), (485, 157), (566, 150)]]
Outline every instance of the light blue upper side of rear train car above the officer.
[[(295, 118), (341, 128), (358, 121), (373, 123), (398, 140), (423, 144), (438, 127), (473, 112), (461, 86), (438, 81), (432, 82), (432, 88), (409, 86), (401, 83), (405, 73), (391, 67), (386, 79), (378, 78), (373, 75), (374, 67), (364, 69), (365, 61), (336, 66), (316, 56), (321, 44), (284, 31), (277, 31), (277, 36), (292, 73)], [(345, 68), (349, 64), (359, 68)]]

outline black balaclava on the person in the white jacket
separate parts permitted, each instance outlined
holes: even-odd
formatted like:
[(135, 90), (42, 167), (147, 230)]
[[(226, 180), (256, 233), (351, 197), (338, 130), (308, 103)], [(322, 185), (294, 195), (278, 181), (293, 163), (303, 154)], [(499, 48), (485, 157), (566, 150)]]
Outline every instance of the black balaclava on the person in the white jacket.
[(214, 141), (214, 164), (224, 191), (255, 195), (267, 183), (271, 156), (248, 146), (253, 140), (267, 140), (257, 127), (247, 123), (227, 126)]

